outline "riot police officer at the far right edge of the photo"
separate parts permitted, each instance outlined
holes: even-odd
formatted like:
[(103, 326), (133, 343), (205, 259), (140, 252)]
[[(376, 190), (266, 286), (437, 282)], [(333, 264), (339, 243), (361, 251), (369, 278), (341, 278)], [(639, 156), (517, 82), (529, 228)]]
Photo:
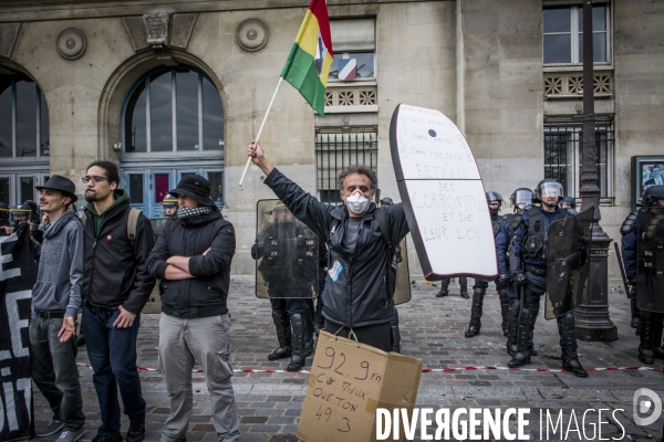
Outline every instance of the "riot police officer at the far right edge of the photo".
[(649, 187), (640, 206), (635, 219), (627, 222), (627, 217), (621, 229), (622, 254), (641, 318), (639, 360), (652, 365), (664, 359), (664, 186)]

